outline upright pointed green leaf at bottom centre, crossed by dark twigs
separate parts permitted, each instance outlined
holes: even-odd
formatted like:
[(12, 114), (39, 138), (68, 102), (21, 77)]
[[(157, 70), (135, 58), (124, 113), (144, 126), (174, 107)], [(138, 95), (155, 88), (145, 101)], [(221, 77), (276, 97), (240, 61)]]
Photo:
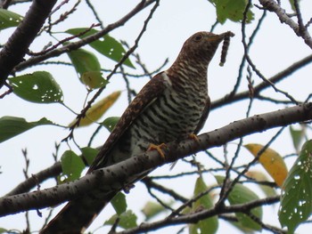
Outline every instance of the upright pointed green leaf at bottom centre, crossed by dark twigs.
[[(204, 192), (208, 190), (208, 187), (206, 186), (205, 182), (203, 182), (202, 177), (200, 176), (195, 183), (195, 189), (193, 196), (196, 197), (201, 192)], [(212, 198), (210, 198), (209, 194), (202, 196), (198, 200), (195, 201), (192, 210), (195, 212), (198, 209), (206, 208), (209, 209), (213, 207), (213, 201)], [(213, 234), (216, 233), (218, 230), (218, 217), (213, 216), (208, 219), (202, 220), (200, 222), (197, 222), (196, 224), (190, 224), (189, 230), (191, 234), (197, 234), (197, 233), (207, 233), (207, 234)]]

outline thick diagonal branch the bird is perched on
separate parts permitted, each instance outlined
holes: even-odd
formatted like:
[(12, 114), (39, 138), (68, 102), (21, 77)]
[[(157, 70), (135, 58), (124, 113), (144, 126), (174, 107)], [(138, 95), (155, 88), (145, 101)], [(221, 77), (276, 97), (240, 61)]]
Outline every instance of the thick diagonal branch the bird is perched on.
[(291, 125), (312, 119), (312, 103), (280, 109), (254, 117), (235, 121), (222, 128), (198, 137), (199, 141), (185, 140), (168, 143), (165, 160), (156, 150), (148, 151), (143, 156), (131, 157), (116, 165), (95, 170), (78, 181), (55, 186), (51, 189), (24, 193), (0, 199), (0, 215), (15, 214), (30, 209), (55, 206), (66, 200), (77, 198), (90, 190), (100, 189), (103, 192), (121, 190), (124, 183), (135, 174), (171, 163), (178, 158), (187, 157), (203, 149), (218, 147), (228, 141), (241, 138), (251, 133), (263, 132), (278, 126)]

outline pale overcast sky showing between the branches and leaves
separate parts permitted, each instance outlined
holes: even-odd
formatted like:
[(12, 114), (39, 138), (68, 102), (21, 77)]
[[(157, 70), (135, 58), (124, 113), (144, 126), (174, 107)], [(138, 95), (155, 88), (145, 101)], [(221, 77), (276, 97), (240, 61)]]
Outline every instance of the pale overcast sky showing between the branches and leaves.
[[(70, 1), (72, 2), (72, 1)], [(95, 1), (94, 1), (95, 2)], [(125, 13), (129, 12), (138, 1), (96, 1), (96, 7), (99, 16), (103, 20), (104, 25), (108, 25), (115, 20), (119, 20)], [(258, 1), (255, 3), (259, 4)], [(312, 4), (310, 1), (300, 1), (302, 5), (304, 20), (308, 20), (311, 16)], [(287, 4), (286, 4), (287, 5)], [(12, 7), (10, 10), (19, 12), (21, 15), (25, 14), (27, 4), (22, 4), (18, 7)], [(67, 8), (67, 6), (66, 6)], [(68, 7), (70, 8), (70, 7)], [(151, 7), (150, 7), (151, 8)], [(149, 9), (145, 9), (144, 12), (139, 13), (134, 19), (129, 20), (124, 27), (118, 28), (111, 33), (111, 36), (119, 40), (127, 41), (128, 44), (134, 43), (135, 37), (143, 26), (143, 21), (149, 13)], [(256, 19), (259, 19), (262, 11), (253, 7)], [(81, 28), (89, 27), (95, 22), (93, 17), (90, 17), (90, 12), (86, 7), (79, 7), (78, 12), (73, 16), (70, 16), (62, 27), (54, 28), (54, 30), (64, 30), (67, 28)], [(306, 12), (308, 11), (308, 12)], [(254, 46), (250, 50), (250, 56), (252, 60), (257, 64), (257, 67), (263, 71), (267, 77), (275, 75), (275, 73), (291, 65), (294, 61), (299, 61), (301, 58), (310, 54), (310, 49), (302, 39), (298, 38), (294, 32), (286, 25), (281, 25), (273, 13), (267, 12), (267, 19), (265, 20), (259, 36), (256, 38)], [(209, 30), (211, 25), (216, 20), (216, 13), (214, 7), (205, 0), (171, 0), (171, 1), (160, 1), (160, 7), (155, 12), (151, 23), (149, 24), (145, 35), (140, 41), (139, 48), (136, 52), (141, 55), (142, 61), (144, 61), (146, 67), (150, 70), (157, 69), (167, 58), (169, 59), (168, 66), (176, 59), (177, 53), (181, 49), (185, 39), (193, 35), (194, 32), (201, 30)], [(247, 32), (250, 33), (255, 25), (247, 27)], [(227, 30), (231, 30), (235, 33), (235, 37), (231, 39), (230, 49), (225, 67), (221, 68), (218, 66), (220, 58), (220, 48), (216, 53), (214, 60), (209, 66), (209, 93), (212, 100), (217, 100), (223, 97), (226, 93), (229, 93), (233, 88), (237, 77), (237, 68), (242, 60), (242, 36), (241, 36), (241, 25), (233, 22), (226, 22), (225, 25), (218, 25), (215, 29), (216, 33), (222, 33)], [(7, 36), (12, 32), (12, 29), (6, 29), (1, 32), (1, 43), (4, 43)], [(64, 35), (66, 36), (66, 35)], [(40, 50), (47, 41), (35, 41), (32, 45), (32, 50)], [(220, 46), (221, 47), (221, 46)], [(114, 65), (113, 62), (101, 58), (101, 64), (105, 69), (111, 69)], [(68, 61), (66, 55), (62, 55), (61, 60)], [(55, 61), (55, 60), (54, 60)], [(168, 68), (167, 66), (167, 68)], [(86, 98), (86, 89), (78, 81), (77, 75), (74, 69), (65, 66), (50, 66), (50, 67), (35, 67), (29, 69), (28, 72), (45, 69), (53, 74), (53, 77), (62, 86), (64, 93), (64, 102), (70, 106), (71, 109), (79, 112), (82, 108), (84, 100)], [(128, 69), (128, 72), (135, 73), (135, 70)], [(279, 84), (278, 87), (286, 92), (290, 92), (296, 99), (304, 100), (308, 93), (310, 93), (310, 77), (312, 74), (312, 66), (307, 66), (305, 69), (296, 72), (291, 78)], [(255, 83), (260, 82), (259, 77), (254, 76)], [(148, 81), (147, 78), (140, 78), (131, 80), (133, 86), (137, 91)], [(242, 90), (246, 89), (246, 81), (243, 80)], [(125, 90), (126, 85), (122, 77), (114, 76), (111, 78), (111, 84), (108, 85), (107, 90), (103, 92), (102, 96), (106, 96), (116, 90)], [(3, 92), (2, 92), (3, 93)], [(273, 95), (275, 98), (282, 99), (281, 94), (273, 93), (268, 91), (267, 95)], [(65, 109), (59, 104), (40, 105), (35, 103), (28, 103), (22, 101), (20, 98), (14, 95), (9, 95), (1, 101), (1, 112), (2, 116), (15, 116), (25, 117), (28, 121), (36, 121), (41, 117), (47, 117), (55, 123), (61, 125), (67, 125), (75, 117), (69, 110)], [(105, 117), (120, 116), (123, 110), (127, 107), (127, 93), (123, 92), (121, 98), (117, 104), (110, 109)], [(248, 107), (248, 101), (242, 101), (231, 107), (225, 109), (217, 109), (213, 111), (209, 120), (207, 121), (205, 128), (202, 132), (208, 132), (214, 130), (223, 125), (227, 125), (234, 120), (245, 117), (246, 110)], [(283, 108), (281, 106), (280, 108)], [(259, 114), (271, 110), (275, 110), (274, 105), (267, 104), (267, 102), (257, 101), (257, 104), (251, 109), (251, 114)], [(86, 145), (88, 139), (93, 133), (96, 125), (88, 128), (81, 128), (75, 131), (75, 140), (80, 145)], [(246, 139), (245, 143), (257, 142), (266, 144), (273, 133), (276, 130), (268, 131), (269, 133), (255, 134), (250, 138)], [(54, 151), (54, 142), (60, 142), (66, 137), (68, 131), (62, 128), (51, 127), (51, 126), (40, 126), (27, 133), (23, 133), (20, 136), (5, 141), (0, 144), (0, 157), (1, 157), (1, 174), (0, 184), (1, 193), (5, 194), (9, 190), (12, 190), (18, 182), (23, 181), (22, 168), (24, 167), (24, 160), (21, 156), (21, 149), (28, 149), (29, 158), (31, 164), (29, 167), (29, 173), (37, 173), (43, 168), (53, 163), (53, 157), (51, 156)], [(97, 137), (96, 144), (100, 145), (106, 139), (108, 132), (103, 130), (101, 137)], [(74, 144), (70, 143), (70, 146), (75, 149)], [(289, 133), (283, 133), (283, 137), (280, 140), (275, 141), (272, 146), (277, 149), (280, 154), (285, 155), (293, 151), (291, 145), (291, 139)], [(229, 150), (235, 149), (235, 145), (229, 145)], [(69, 149), (67, 145), (62, 144), (61, 152)], [(216, 149), (216, 154), (220, 159), (223, 159), (223, 149)], [(249, 159), (250, 155), (246, 151), (246, 157), (242, 158), (242, 161)], [(205, 157), (199, 157), (199, 160), (205, 162)], [(184, 168), (185, 166), (185, 168)], [(14, 170), (12, 170), (14, 168)], [(187, 165), (178, 163), (177, 166), (172, 170), (168, 170), (169, 166), (163, 166), (157, 169), (154, 173), (166, 174), (166, 173), (178, 173), (181, 170), (190, 170)], [(210, 177), (205, 178), (208, 183), (212, 183)], [(172, 189), (181, 191), (183, 189), (185, 197), (191, 197), (193, 193), (193, 181), (187, 179), (182, 184), (170, 183)], [(187, 183), (189, 182), (189, 183)], [(185, 191), (185, 184), (189, 187), (189, 190)], [(53, 181), (46, 183), (45, 186), (53, 185)], [(135, 190), (131, 190), (127, 200), (131, 209), (138, 211), (143, 206), (146, 200), (142, 198), (142, 192), (146, 193), (144, 186), (138, 182), (135, 186)], [(277, 219), (276, 207), (268, 207), (267, 214), (274, 214), (273, 216), (265, 216), (264, 220), (271, 222), (271, 220)], [(109, 212), (110, 213), (109, 213)], [(109, 207), (106, 214), (102, 214), (103, 217), (109, 217), (112, 214), (112, 209)], [(43, 214), (47, 212), (42, 210)], [(41, 227), (42, 218), (37, 217), (36, 212), (31, 212), (31, 227), (32, 230), (36, 230)], [(24, 214), (12, 215), (0, 219), (0, 227), (4, 228), (17, 228), (22, 229), (25, 227), (23, 221)], [(142, 217), (140, 217), (142, 218)], [(99, 218), (101, 220), (101, 218)], [(40, 221), (40, 222), (39, 222)], [(98, 227), (101, 222), (95, 222), (90, 230)], [(222, 223), (222, 224), (221, 224)], [(224, 233), (223, 231), (232, 228), (224, 226), (224, 222), (221, 222), (218, 233)], [(306, 226), (308, 227), (308, 226)], [(174, 228), (174, 230), (178, 230)], [(298, 233), (305, 233), (305, 226), (298, 230)], [(169, 231), (167, 229), (167, 231)], [(170, 233), (171, 230), (169, 231)], [(168, 233), (169, 233), (168, 232)], [(100, 233), (100, 232), (98, 232)], [(155, 233), (165, 233), (164, 230), (158, 230)], [(234, 232), (231, 232), (234, 233)], [(263, 232), (265, 233), (265, 232)]]

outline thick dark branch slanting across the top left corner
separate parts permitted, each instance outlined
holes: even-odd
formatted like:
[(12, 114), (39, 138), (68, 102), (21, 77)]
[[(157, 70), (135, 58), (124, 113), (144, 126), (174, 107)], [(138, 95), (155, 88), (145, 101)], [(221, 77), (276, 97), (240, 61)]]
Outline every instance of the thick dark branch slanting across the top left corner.
[(49, 16), (56, 1), (33, 1), (21, 24), (4, 44), (4, 48), (0, 52), (0, 88), (4, 85), (12, 69), (23, 60), (25, 53), (29, 50), (29, 45), (44, 25), (45, 19)]

